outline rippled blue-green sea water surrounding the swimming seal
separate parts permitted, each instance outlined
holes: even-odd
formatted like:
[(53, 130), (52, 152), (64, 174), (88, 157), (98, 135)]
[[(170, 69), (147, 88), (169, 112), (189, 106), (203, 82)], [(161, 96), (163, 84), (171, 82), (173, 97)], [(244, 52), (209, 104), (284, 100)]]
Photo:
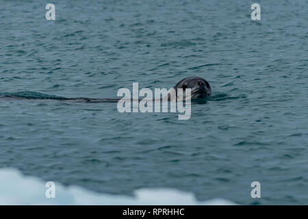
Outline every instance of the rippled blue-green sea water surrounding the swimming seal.
[[(0, 98), (0, 168), (99, 194), (308, 205), (308, 1), (52, 3), (47, 21), (47, 2), (0, 0), (0, 96), (13, 96)], [(189, 120), (42, 99), (116, 98), (188, 76), (212, 90)]]

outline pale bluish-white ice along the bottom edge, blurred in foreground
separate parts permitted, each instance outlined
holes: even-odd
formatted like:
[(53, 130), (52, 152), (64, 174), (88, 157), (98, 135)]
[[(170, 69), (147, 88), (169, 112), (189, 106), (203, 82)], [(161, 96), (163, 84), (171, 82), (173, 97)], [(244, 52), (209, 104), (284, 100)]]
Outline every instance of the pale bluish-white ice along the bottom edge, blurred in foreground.
[(100, 194), (55, 182), (55, 198), (46, 198), (48, 188), (36, 177), (11, 168), (0, 169), (0, 205), (235, 205), (216, 198), (197, 201), (194, 194), (173, 189), (141, 189), (134, 196)]

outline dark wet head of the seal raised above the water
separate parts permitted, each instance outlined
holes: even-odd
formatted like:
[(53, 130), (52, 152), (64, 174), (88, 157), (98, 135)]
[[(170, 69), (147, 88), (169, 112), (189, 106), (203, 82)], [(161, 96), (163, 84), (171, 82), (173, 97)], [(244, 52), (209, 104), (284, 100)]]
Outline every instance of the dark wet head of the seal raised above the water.
[[(176, 96), (178, 88), (182, 88), (183, 92), (186, 88), (191, 89), (191, 96), (183, 96), (183, 99), (205, 99), (207, 96), (211, 96), (211, 86), (209, 85), (209, 82), (202, 77), (185, 77), (184, 79), (181, 79), (181, 81), (179, 81), (173, 88), (175, 89)], [(185, 92), (183, 95), (185, 95)]]

